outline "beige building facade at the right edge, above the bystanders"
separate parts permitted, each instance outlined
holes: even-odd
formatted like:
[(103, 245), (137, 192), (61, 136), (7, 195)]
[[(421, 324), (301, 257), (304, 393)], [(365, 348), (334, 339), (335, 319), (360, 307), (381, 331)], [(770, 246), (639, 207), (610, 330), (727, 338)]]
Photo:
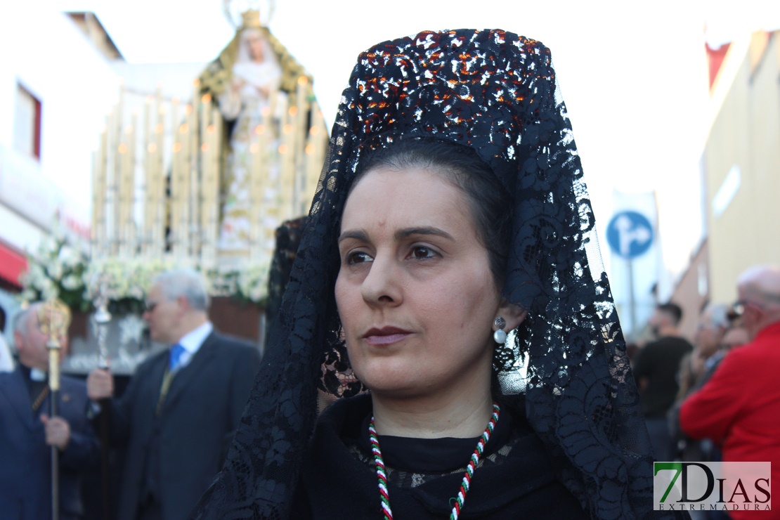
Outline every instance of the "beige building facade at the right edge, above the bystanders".
[(712, 91), (704, 148), (710, 299), (736, 298), (736, 278), (780, 263), (780, 31), (729, 46)]

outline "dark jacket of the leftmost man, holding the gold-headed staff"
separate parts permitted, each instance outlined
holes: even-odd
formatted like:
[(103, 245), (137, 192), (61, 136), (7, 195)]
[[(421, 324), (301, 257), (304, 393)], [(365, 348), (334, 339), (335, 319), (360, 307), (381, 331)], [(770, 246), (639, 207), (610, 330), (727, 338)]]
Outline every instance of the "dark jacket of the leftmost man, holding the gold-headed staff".
[[(0, 373), (0, 517), (51, 518), (51, 447), (39, 416), (48, 415), (51, 396), (35, 414), (23, 372)], [(97, 467), (100, 447), (87, 420), (87, 387), (63, 376), (58, 415), (70, 425), (70, 441), (59, 454), (61, 518), (83, 514), (80, 473)]]

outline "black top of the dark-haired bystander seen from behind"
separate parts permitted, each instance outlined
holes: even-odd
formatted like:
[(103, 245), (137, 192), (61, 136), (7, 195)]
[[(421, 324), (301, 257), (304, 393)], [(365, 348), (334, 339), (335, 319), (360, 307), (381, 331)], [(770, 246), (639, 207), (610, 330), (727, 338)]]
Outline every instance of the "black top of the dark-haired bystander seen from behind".
[(693, 345), (685, 338), (665, 336), (651, 341), (636, 355), (633, 371), (636, 382), (647, 378), (647, 387), (640, 392), (645, 417), (666, 417), (679, 391), (680, 361), (691, 351)]

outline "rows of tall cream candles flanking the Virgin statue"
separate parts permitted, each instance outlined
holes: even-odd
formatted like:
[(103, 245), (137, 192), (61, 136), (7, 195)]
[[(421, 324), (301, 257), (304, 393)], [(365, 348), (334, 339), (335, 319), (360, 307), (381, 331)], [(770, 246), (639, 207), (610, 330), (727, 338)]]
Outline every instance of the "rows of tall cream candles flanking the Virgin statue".
[[(191, 104), (165, 100), (158, 89), (146, 97), (139, 126), (138, 111), (126, 106), (131, 96), (122, 90), (94, 153), (93, 256), (168, 254), (218, 267), (228, 150), (215, 100), (197, 80)], [(270, 260), (273, 223), (305, 214), (314, 195), (328, 136), (312, 98), (301, 76), (293, 95), (271, 95), (254, 129), (249, 263)]]

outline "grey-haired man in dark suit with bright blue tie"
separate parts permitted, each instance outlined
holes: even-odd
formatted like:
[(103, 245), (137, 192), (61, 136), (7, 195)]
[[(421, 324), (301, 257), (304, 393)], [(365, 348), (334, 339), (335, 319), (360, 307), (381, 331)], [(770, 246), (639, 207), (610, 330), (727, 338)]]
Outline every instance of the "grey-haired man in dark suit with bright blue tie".
[[(112, 438), (126, 443), (119, 520), (179, 520), (222, 466), (260, 366), (254, 345), (214, 330), (200, 275), (169, 271), (154, 281), (144, 320), (171, 345), (142, 363), (112, 403)], [(107, 370), (87, 377), (91, 399), (111, 397)]]

